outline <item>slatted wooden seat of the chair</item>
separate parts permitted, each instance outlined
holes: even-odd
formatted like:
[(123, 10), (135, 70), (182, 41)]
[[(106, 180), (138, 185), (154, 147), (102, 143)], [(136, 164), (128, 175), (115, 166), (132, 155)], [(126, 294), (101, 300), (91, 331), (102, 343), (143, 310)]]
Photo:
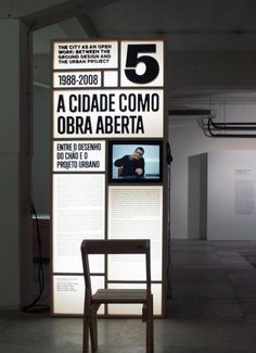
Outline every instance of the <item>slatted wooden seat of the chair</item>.
[(145, 289), (98, 289), (92, 295), (92, 303), (145, 303)]

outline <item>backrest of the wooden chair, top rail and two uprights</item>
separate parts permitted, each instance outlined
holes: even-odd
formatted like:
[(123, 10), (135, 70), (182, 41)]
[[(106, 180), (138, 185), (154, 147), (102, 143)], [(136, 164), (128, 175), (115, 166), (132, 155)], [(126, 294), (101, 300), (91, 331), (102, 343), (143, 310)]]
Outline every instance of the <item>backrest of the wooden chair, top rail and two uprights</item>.
[(81, 243), (81, 257), (84, 265), (86, 297), (91, 298), (91, 280), (89, 254), (144, 254), (145, 278), (148, 295), (151, 294), (151, 259), (149, 239), (110, 239), (110, 240), (84, 240)]

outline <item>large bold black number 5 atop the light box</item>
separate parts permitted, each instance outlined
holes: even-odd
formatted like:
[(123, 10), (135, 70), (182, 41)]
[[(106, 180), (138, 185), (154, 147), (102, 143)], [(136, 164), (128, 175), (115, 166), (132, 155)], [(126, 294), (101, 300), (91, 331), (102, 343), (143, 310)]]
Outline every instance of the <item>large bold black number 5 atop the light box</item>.
[[(155, 53), (156, 45), (128, 45), (126, 59), (126, 77), (135, 84), (149, 84), (154, 80), (159, 73), (159, 65), (155, 58), (141, 55), (139, 53)], [(139, 63), (145, 65), (145, 71), (142, 75), (138, 75), (136, 67)]]

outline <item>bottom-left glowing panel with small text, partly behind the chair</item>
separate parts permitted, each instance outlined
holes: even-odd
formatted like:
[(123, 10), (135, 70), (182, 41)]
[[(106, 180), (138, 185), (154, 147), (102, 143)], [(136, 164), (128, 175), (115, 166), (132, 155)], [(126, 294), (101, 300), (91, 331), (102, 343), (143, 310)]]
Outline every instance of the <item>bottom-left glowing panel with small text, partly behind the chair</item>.
[[(91, 278), (92, 290), (104, 288), (104, 277)], [(53, 314), (84, 313), (85, 279), (84, 276), (53, 276)], [(104, 306), (98, 311), (103, 314)]]

